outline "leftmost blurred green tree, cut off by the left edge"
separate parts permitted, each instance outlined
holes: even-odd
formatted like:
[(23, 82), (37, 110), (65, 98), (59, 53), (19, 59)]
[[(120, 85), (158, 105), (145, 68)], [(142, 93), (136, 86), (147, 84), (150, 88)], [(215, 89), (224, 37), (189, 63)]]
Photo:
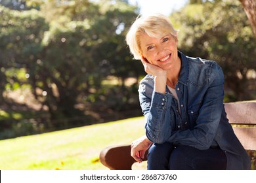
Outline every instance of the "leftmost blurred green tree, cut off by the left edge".
[(16, 71), (22, 68), (26, 71), (27, 65), (34, 64), (32, 59), (36, 60), (41, 52), (43, 33), (49, 27), (37, 10), (18, 12), (0, 6), (0, 21), (0, 84), (3, 95), (7, 86), (13, 88), (27, 82), (25, 77), (20, 80)]

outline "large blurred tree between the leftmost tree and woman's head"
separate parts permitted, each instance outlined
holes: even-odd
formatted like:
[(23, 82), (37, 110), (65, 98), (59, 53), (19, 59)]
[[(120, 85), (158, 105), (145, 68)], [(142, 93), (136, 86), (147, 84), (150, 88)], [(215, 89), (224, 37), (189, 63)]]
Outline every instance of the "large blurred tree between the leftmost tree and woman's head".
[(131, 22), (134, 8), (123, 1), (104, 1), (103, 7), (89, 1), (47, 1), (41, 11), (51, 26), (43, 39), (40, 64), (30, 68), (31, 84), (47, 93), (43, 104), (52, 119), (81, 116), (74, 108), (77, 98), (84, 95), (93, 105), (104, 103), (103, 78), (118, 73), (115, 62), (125, 65), (125, 37), (116, 31)]

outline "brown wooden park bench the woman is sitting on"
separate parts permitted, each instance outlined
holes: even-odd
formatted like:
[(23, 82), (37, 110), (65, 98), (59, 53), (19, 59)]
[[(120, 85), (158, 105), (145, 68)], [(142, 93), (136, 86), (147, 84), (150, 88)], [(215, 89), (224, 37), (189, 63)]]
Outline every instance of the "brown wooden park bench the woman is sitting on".
[[(234, 132), (251, 157), (251, 169), (256, 169), (256, 102), (224, 103), (224, 107)], [(136, 161), (131, 157), (131, 145), (123, 145), (102, 150), (100, 162), (112, 170), (131, 170)]]

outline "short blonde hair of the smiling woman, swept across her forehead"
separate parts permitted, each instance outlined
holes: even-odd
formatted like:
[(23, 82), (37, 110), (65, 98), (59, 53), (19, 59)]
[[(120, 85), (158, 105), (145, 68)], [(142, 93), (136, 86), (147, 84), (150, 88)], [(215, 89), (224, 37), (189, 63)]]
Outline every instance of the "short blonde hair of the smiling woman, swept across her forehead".
[(140, 59), (142, 56), (139, 40), (141, 33), (146, 33), (150, 37), (155, 38), (160, 38), (166, 33), (170, 33), (177, 40), (178, 31), (173, 28), (169, 18), (162, 14), (146, 17), (139, 15), (126, 35), (126, 42), (134, 59)]

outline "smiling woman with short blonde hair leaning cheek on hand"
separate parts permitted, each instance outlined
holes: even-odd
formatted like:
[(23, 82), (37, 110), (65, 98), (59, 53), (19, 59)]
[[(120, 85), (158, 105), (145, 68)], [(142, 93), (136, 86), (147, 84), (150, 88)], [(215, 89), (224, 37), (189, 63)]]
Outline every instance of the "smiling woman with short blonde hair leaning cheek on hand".
[(131, 156), (141, 162), (150, 148), (148, 169), (249, 169), (224, 111), (221, 67), (179, 52), (177, 31), (161, 14), (139, 16), (126, 41), (148, 73), (139, 86), (146, 135)]

